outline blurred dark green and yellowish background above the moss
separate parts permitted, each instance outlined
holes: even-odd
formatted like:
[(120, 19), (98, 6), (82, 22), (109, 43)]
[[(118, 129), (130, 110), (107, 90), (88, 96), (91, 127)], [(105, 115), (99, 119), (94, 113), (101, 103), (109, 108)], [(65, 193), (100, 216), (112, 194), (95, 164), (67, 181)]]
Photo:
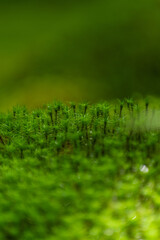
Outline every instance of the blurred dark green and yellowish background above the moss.
[(0, 3), (0, 109), (159, 94), (159, 0)]

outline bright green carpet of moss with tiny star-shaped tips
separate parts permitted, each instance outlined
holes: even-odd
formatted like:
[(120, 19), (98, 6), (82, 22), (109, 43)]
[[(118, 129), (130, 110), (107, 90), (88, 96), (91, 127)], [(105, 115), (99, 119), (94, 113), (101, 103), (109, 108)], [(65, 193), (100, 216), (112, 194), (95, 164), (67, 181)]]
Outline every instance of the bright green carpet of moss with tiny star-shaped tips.
[(160, 239), (158, 104), (0, 114), (0, 239)]

